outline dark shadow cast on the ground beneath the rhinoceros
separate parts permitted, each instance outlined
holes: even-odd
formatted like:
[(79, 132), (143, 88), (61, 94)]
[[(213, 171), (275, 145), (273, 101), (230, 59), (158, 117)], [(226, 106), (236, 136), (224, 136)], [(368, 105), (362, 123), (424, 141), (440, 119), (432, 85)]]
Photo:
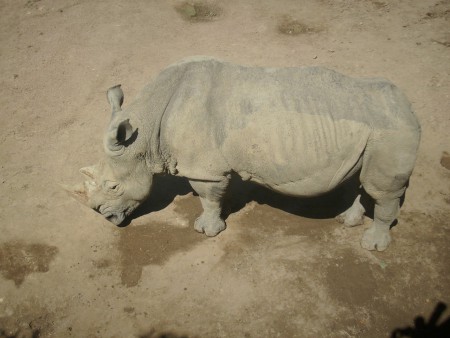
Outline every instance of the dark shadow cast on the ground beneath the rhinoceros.
[[(250, 201), (267, 204), (285, 212), (313, 219), (333, 218), (345, 211), (361, 193), (357, 177), (352, 178), (335, 190), (324, 195), (308, 198), (281, 195), (263, 186), (242, 181), (232, 175), (228, 192), (224, 199), (223, 217), (226, 219), (245, 207)], [(166, 208), (177, 195), (186, 195), (195, 191), (186, 178), (170, 175), (155, 176), (149, 199), (132, 215), (137, 218)], [(361, 202), (366, 208), (366, 215), (373, 217), (373, 202), (362, 191)], [(129, 224), (131, 219), (125, 224)]]

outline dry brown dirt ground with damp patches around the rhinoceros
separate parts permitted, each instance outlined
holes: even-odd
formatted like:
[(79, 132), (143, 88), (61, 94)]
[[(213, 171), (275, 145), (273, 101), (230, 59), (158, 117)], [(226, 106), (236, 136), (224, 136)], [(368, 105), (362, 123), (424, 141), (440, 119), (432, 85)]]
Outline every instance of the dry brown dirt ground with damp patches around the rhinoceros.
[[(450, 1), (0, 0), (0, 15), (0, 337), (443, 329)], [(121, 83), (127, 104), (192, 55), (396, 83), (423, 138), (389, 249), (360, 247), (369, 218), (335, 222), (339, 192), (299, 200), (237, 182), (228, 229), (215, 238), (193, 230), (200, 203), (181, 178), (159, 179), (124, 228), (68, 197), (58, 184), (81, 180), (78, 169), (102, 154), (106, 89)]]

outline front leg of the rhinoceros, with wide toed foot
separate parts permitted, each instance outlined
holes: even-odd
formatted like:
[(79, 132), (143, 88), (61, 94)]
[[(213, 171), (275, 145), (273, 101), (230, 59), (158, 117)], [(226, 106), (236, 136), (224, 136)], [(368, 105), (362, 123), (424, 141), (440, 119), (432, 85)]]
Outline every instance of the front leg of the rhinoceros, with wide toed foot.
[(195, 221), (194, 229), (206, 236), (216, 236), (225, 230), (225, 221), (221, 218), (222, 201), (228, 187), (228, 178), (220, 182), (190, 180), (192, 188), (200, 196), (203, 213)]

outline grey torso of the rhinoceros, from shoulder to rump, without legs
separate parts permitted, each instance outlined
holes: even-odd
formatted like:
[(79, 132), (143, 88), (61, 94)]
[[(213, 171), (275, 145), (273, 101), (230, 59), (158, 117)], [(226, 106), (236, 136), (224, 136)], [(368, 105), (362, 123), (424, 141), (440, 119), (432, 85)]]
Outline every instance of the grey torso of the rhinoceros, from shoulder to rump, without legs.
[(161, 125), (180, 175), (235, 171), (293, 195), (328, 191), (361, 165), (374, 129), (417, 128), (385, 80), (323, 68), (248, 68), (186, 62)]

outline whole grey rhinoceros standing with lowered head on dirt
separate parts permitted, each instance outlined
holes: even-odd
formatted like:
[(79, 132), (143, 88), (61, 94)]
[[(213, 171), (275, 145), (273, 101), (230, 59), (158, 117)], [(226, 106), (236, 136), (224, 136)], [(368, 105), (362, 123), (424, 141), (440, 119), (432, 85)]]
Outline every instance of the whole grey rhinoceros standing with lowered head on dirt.
[[(194, 57), (164, 69), (126, 108), (120, 85), (107, 98), (104, 159), (80, 169), (88, 180), (73, 193), (112, 223), (146, 200), (154, 175), (189, 180), (203, 206), (194, 228), (207, 236), (226, 228), (221, 211), (232, 174), (299, 197), (359, 175), (375, 201), (361, 245), (388, 247), (420, 140), (411, 105), (391, 82)], [(364, 212), (358, 195), (337, 219), (358, 225)]]

